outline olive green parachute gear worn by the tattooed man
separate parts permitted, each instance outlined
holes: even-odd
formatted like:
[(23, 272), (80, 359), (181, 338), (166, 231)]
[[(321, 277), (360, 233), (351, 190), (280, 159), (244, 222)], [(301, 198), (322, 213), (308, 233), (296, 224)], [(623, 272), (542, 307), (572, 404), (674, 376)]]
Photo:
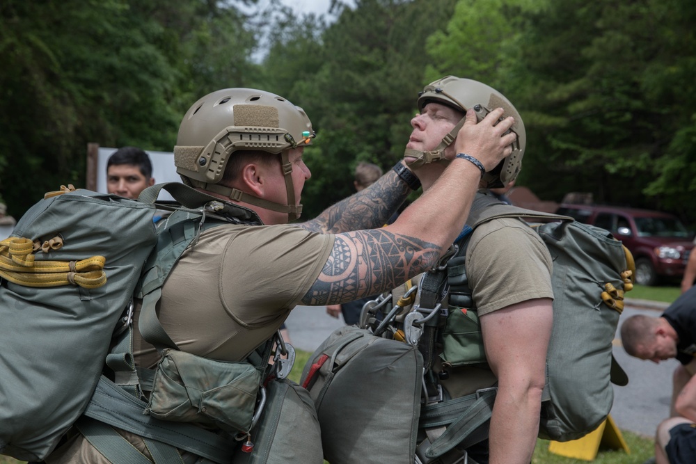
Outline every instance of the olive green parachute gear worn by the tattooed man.
[[(176, 202), (158, 201), (161, 189)], [(155, 224), (158, 209), (173, 212)], [(306, 424), (295, 424), (307, 440), (300, 456), (320, 463), (315, 411), (284, 378), (285, 360), (269, 367), (271, 341), (246, 362), (207, 360), (177, 351), (157, 320), (161, 286), (199, 232), (258, 222), (177, 183), (139, 200), (63, 187), (33, 205), (0, 241), (0, 454), (42, 461), (75, 426), (112, 462), (183, 462), (182, 449), (200, 463), (280, 463), (287, 454), (274, 461), (267, 442), (294, 407)], [(163, 354), (154, 372), (134, 365), (134, 301), (143, 338)], [(114, 426), (143, 436), (152, 461)], [(264, 444), (252, 450), (252, 436)]]

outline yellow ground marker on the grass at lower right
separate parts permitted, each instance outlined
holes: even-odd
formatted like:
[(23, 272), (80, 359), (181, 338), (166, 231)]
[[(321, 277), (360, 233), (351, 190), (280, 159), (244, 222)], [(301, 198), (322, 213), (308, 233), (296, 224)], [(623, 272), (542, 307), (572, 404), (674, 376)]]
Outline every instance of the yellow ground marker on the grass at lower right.
[(548, 451), (567, 458), (594, 461), (599, 449), (624, 449), (626, 454), (631, 454), (621, 431), (616, 426), (614, 419), (609, 415), (595, 431), (592, 431), (578, 440), (570, 442), (551, 441)]

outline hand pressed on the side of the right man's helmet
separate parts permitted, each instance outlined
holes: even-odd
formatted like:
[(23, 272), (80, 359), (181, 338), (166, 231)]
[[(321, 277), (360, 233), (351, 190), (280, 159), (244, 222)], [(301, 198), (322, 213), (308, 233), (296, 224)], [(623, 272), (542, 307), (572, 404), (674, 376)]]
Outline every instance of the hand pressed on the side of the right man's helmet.
[(511, 144), (516, 138), (514, 132), (508, 132), (514, 118), (510, 116), (500, 120), (502, 116), (503, 109), (497, 108), (477, 123), (475, 111), (466, 111), (466, 122), (454, 141), (454, 154), (448, 154), (448, 158), (457, 153), (466, 153), (481, 161), (487, 171), (498, 166), (503, 158), (512, 153)]

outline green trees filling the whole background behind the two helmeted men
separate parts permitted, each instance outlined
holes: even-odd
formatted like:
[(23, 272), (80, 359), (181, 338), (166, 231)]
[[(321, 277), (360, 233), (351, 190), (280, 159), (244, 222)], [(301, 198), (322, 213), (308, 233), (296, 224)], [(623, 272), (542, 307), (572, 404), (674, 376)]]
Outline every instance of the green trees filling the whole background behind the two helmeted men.
[(171, 150), (198, 97), (251, 86), (313, 120), (309, 217), (352, 193), (358, 161), (390, 168), (422, 85), (454, 74), (490, 83), (521, 111), (519, 184), (541, 198), (590, 191), (696, 222), (683, 201), (696, 191), (696, 3), (333, 0), (328, 23), (256, 1), (0, 2), (10, 214), (84, 185), (88, 142)]

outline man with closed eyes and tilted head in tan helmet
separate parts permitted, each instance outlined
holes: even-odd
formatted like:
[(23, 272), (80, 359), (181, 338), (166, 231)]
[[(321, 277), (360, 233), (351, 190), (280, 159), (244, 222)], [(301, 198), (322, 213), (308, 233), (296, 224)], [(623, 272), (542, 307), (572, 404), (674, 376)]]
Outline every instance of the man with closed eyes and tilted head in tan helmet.
[[(501, 107), (500, 117), (512, 116), (516, 136), (512, 154), (495, 169), (479, 166), (461, 150), (466, 134), (459, 131), (466, 117), (478, 118)], [(425, 86), (406, 145), (406, 163), (422, 182), (425, 195), (452, 164), (452, 158), (479, 166), (480, 187), (502, 187), (521, 169), (526, 136), (522, 118), (500, 92), (477, 81), (444, 77)], [(496, 118), (498, 115), (496, 115)], [(464, 140), (463, 140), (464, 138)], [(424, 196), (425, 196), (424, 195)], [(437, 222), (437, 230), (448, 227)], [(450, 231), (464, 236), (469, 230)], [(551, 336), (551, 256), (528, 225), (503, 218), (475, 228), (466, 250), (466, 277), (480, 317), (489, 369), (440, 367), (441, 385), (451, 397), (463, 397), (497, 382), (498, 394), (490, 423), (490, 462), (529, 463), (539, 429), (546, 349)], [(396, 294), (396, 293), (395, 293)], [(403, 294), (403, 291), (401, 292)], [(439, 358), (438, 358), (439, 359)], [(487, 463), (487, 443), (469, 449), (469, 457)]]

